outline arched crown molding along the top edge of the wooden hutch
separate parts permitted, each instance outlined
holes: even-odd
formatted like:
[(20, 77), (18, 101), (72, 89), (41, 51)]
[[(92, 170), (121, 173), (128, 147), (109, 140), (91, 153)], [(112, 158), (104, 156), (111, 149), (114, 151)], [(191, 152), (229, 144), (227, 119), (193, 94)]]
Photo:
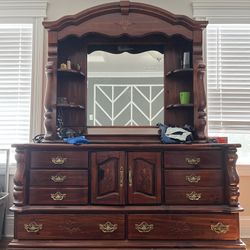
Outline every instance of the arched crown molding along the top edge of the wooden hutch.
[(62, 30), (68, 25), (79, 25), (98, 16), (114, 13), (120, 13), (121, 15), (127, 16), (129, 16), (130, 13), (144, 14), (156, 17), (172, 25), (182, 25), (190, 30), (204, 28), (207, 25), (207, 22), (205, 21), (195, 21), (187, 16), (174, 15), (159, 7), (130, 1), (120, 1), (98, 5), (96, 7), (83, 10), (76, 15), (62, 17), (57, 21), (45, 21), (43, 22), (43, 25), (45, 28), (52, 31)]

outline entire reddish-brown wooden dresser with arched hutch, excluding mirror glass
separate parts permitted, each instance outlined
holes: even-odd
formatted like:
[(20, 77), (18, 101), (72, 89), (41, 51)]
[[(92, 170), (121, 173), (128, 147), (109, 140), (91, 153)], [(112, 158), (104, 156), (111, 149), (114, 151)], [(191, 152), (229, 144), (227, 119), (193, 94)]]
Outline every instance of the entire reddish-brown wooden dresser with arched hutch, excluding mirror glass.
[[(44, 22), (45, 137), (14, 145), (9, 249), (246, 249), (239, 232), (240, 145), (209, 143), (206, 135), (206, 25), (129, 1)], [(87, 126), (88, 55), (121, 48), (163, 55), (164, 123), (191, 125), (192, 144), (163, 144), (156, 126)], [(181, 91), (190, 92), (190, 103), (180, 104)], [(62, 131), (90, 143), (63, 143)]]

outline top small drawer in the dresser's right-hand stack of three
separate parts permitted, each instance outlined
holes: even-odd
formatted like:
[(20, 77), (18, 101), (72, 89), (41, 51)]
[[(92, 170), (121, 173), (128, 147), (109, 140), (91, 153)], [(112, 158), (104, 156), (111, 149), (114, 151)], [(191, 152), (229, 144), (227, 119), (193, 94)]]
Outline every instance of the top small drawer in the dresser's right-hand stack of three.
[(164, 152), (165, 168), (221, 168), (222, 163), (222, 153), (218, 150)]

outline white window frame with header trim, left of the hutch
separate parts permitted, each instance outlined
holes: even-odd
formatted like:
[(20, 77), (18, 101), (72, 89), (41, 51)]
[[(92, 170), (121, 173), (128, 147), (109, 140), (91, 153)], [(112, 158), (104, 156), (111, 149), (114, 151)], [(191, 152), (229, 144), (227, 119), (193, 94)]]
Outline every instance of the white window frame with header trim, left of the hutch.
[[(45, 37), (42, 22), (47, 16), (47, 5), (48, 0), (0, 1), (0, 23), (27, 23), (33, 26), (29, 142), (43, 131)], [(9, 166), (14, 170), (15, 163), (10, 162)]]

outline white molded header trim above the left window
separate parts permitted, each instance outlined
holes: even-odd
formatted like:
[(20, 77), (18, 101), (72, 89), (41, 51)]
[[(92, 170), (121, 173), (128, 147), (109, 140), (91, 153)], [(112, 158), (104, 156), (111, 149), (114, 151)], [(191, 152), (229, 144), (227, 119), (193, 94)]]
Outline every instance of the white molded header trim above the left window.
[(48, 0), (1, 0), (1, 17), (46, 17)]

